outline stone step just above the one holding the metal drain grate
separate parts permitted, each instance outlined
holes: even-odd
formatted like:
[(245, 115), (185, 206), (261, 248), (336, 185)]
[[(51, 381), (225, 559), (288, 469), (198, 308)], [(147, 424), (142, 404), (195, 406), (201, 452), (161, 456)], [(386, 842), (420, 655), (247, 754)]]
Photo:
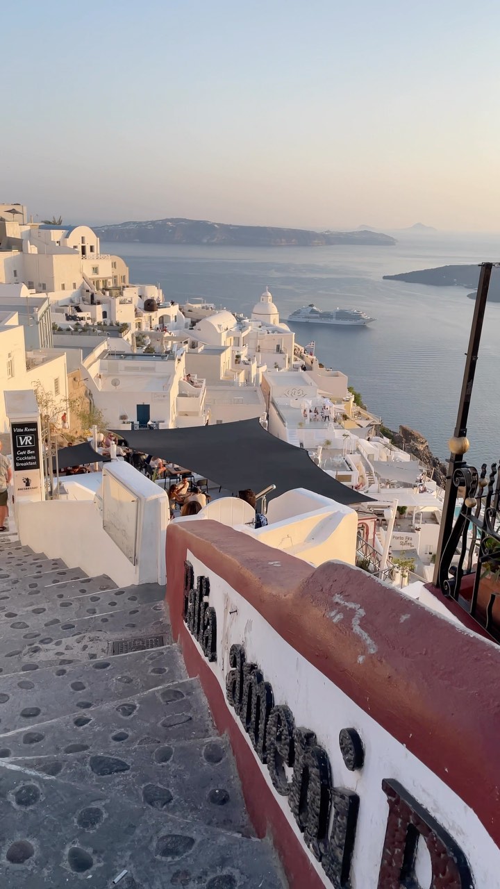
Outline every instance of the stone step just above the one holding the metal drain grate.
[[(19, 598), (15, 608), (0, 605), (0, 637), (20, 638), (27, 630), (42, 630), (55, 624), (64, 624), (69, 619), (87, 618), (93, 615), (108, 614), (111, 611), (125, 611), (138, 605), (161, 605), (165, 591), (157, 583), (139, 587), (125, 587), (107, 592), (86, 594), (76, 598), (57, 599), (42, 603)], [(23, 627), (17, 625), (22, 623)]]

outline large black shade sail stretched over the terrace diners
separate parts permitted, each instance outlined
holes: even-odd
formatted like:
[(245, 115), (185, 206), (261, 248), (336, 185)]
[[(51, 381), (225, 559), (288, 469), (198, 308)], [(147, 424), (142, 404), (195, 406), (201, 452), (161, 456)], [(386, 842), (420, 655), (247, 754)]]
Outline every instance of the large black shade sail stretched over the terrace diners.
[(268, 499), (293, 488), (307, 488), (344, 505), (371, 500), (328, 476), (303, 448), (271, 436), (258, 419), (183, 429), (115, 431), (134, 451), (192, 469), (233, 493), (244, 488), (259, 493), (276, 485)]

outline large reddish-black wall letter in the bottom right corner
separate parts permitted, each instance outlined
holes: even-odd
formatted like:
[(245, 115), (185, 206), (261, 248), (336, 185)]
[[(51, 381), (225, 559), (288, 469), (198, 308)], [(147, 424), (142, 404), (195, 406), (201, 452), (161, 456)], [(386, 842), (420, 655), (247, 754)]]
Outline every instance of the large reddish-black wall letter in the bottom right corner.
[(382, 782), (389, 803), (378, 889), (418, 885), (415, 855), (419, 837), (431, 856), (432, 889), (474, 889), (464, 853), (438, 821), (399, 781)]

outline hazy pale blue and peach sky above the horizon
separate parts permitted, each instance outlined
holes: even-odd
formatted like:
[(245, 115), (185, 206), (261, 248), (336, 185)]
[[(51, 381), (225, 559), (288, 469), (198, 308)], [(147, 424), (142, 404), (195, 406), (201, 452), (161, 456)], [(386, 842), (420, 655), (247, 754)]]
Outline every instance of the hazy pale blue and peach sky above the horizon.
[(500, 229), (498, 0), (2, 4), (0, 202)]

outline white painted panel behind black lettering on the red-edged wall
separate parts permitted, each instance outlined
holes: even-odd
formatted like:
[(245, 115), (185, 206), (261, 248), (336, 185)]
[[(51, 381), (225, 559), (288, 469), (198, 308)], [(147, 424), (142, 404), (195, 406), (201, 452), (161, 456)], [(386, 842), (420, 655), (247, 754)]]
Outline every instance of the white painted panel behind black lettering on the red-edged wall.
[[(257, 664), (262, 669), (264, 679), (272, 685), (275, 704), (286, 704), (294, 714), (295, 725), (305, 726), (316, 733), (319, 745), (326, 749), (330, 759), (335, 787), (351, 789), (359, 794), (358, 829), (352, 861), (353, 889), (377, 889), (378, 886), (388, 811), (382, 781), (388, 778), (399, 781), (456, 838), (471, 865), (478, 889), (496, 885), (500, 850), (472, 809), (405, 746), (378, 725), (364, 709), (351, 701), (323, 673), (288, 645), (262, 615), (226, 581), (207, 568), (190, 551), (188, 559), (193, 565), (195, 577), (203, 575), (210, 581), (210, 605), (214, 607), (217, 619), (217, 661), (209, 663), (194, 639), (193, 645), (197, 646), (200, 657), (214, 672), (224, 699), (230, 646), (244, 645), (246, 661)], [(276, 563), (271, 565), (276, 565), (275, 570), (279, 571)], [(352, 626), (354, 632), (359, 632), (360, 615), (357, 611), (350, 613), (348, 609), (335, 603), (332, 606), (330, 618), (339, 616)], [(370, 656), (369, 653), (367, 656)], [(234, 709), (229, 705), (228, 709), (238, 723), (276, 803), (302, 844), (304, 853), (308, 855), (324, 885), (331, 889), (332, 884), (327, 881), (319, 862), (303, 844), (302, 834), (294, 821), (287, 798), (279, 796), (273, 788), (269, 771), (254, 753)], [(348, 726), (355, 726), (365, 747), (365, 765), (355, 772), (350, 772), (344, 765), (339, 750), (339, 733)], [(427, 887), (430, 879), (429, 875), (428, 882), (423, 885)], [(304, 886), (304, 889), (307, 887)]]

